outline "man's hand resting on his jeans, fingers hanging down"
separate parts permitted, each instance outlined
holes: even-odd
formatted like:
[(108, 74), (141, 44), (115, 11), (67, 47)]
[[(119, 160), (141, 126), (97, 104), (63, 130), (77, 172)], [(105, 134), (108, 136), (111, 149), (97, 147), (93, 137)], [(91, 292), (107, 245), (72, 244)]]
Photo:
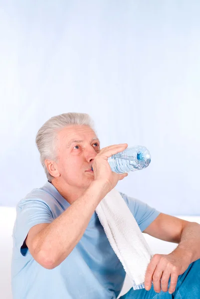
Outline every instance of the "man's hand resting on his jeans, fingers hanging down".
[[(145, 289), (149, 291), (154, 285), (154, 291), (160, 293), (168, 292), (168, 284), (171, 276), (169, 293), (172, 294), (176, 290), (178, 276), (183, 274), (189, 267), (190, 263), (183, 256), (172, 252), (168, 255), (155, 254), (151, 259), (145, 275)], [(148, 289), (149, 286), (149, 289)]]

